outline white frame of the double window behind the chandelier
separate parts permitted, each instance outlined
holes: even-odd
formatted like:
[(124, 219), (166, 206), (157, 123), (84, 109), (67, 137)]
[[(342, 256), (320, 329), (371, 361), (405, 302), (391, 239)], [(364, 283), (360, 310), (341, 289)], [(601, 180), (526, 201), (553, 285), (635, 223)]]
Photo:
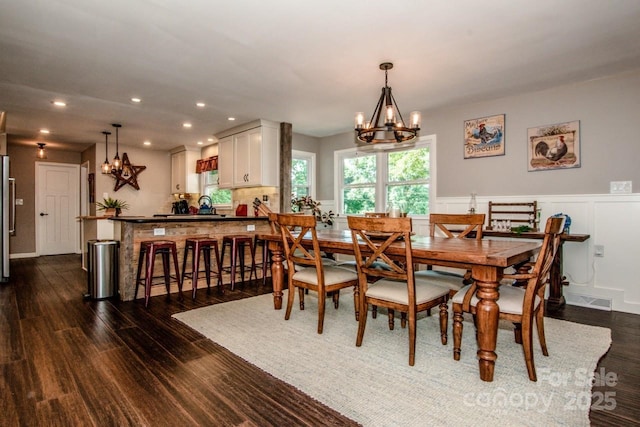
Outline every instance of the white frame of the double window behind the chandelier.
[[(418, 139), (418, 141), (410, 146), (405, 146), (406, 148), (397, 148), (397, 147), (393, 147), (391, 149), (365, 149), (363, 150), (362, 148), (358, 148), (358, 147), (354, 147), (354, 148), (347, 148), (344, 150), (336, 150), (333, 154), (333, 164), (335, 165), (334, 167), (334, 177), (333, 177), (333, 182), (334, 182), (334, 189), (333, 189), (333, 194), (334, 194), (334, 200), (336, 200), (336, 210), (338, 211), (338, 213), (340, 215), (344, 215), (344, 212), (342, 211), (342, 206), (344, 205), (344, 201), (342, 200), (342, 177), (344, 174), (344, 163), (343, 160), (345, 158), (348, 157), (355, 157), (358, 155), (358, 153), (361, 153), (363, 155), (370, 155), (370, 154), (376, 154), (377, 155), (377, 161), (376, 164), (380, 165), (383, 164), (384, 162), (386, 162), (385, 159), (385, 155), (387, 152), (389, 151), (395, 151), (395, 150), (411, 150), (414, 148), (421, 148), (421, 147), (429, 147), (429, 212), (433, 212), (433, 208), (435, 207), (435, 198), (436, 198), (436, 136), (435, 135), (425, 135), (422, 136)], [(381, 161), (383, 163), (381, 163)], [(375, 183), (375, 187), (376, 187), (376, 211), (377, 212), (384, 212), (387, 208), (386, 206), (386, 200), (385, 200), (385, 187), (387, 185), (387, 180), (388, 177), (387, 175), (387, 169), (383, 168), (382, 170), (380, 168), (378, 168), (377, 170), (377, 179), (376, 179), (376, 183)], [(384, 196), (381, 196), (384, 195)], [(426, 218), (428, 217), (428, 215), (412, 215), (414, 217), (417, 218)]]

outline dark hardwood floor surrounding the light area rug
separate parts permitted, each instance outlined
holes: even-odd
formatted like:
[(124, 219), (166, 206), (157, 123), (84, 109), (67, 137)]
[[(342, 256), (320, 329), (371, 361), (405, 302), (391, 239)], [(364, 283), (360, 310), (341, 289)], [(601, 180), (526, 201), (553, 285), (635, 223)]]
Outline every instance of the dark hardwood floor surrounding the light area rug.
[[(77, 255), (12, 260), (11, 269), (0, 285), (2, 426), (356, 425), (170, 317), (269, 286), (200, 290), (195, 302), (154, 297), (145, 309), (83, 300)], [(572, 306), (553, 316), (612, 329), (598, 366), (608, 385), (594, 387), (607, 399), (592, 424), (640, 425), (640, 316)]]

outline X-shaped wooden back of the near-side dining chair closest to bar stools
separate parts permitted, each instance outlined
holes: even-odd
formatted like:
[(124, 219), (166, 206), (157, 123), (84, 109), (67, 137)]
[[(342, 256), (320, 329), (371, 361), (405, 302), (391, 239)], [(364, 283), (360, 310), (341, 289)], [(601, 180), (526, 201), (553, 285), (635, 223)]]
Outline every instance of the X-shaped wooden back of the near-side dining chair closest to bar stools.
[[(282, 245), (289, 271), (295, 271), (295, 265), (315, 267), (322, 272), (322, 257), (316, 233), (316, 217), (300, 214), (276, 214), (276, 223), (280, 226)], [(302, 245), (304, 239), (311, 238), (313, 249)]]

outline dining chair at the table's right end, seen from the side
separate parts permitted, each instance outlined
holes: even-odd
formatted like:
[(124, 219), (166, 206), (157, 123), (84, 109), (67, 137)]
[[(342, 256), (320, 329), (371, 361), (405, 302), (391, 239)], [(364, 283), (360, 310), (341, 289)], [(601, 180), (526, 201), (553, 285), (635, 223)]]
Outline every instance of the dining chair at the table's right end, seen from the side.
[[(509, 274), (505, 278), (526, 280), (526, 287), (501, 286), (497, 304), (500, 319), (516, 324), (516, 334), (520, 330), (521, 344), (527, 373), (531, 381), (536, 381), (536, 368), (533, 361), (533, 322), (535, 320), (542, 354), (549, 355), (544, 336), (544, 291), (549, 281), (551, 264), (560, 245), (560, 235), (564, 229), (564, 217), (552, 217), (547, 220), (542, 247), (533, 270), (526, 274)], [(453, 307), (453, 358), (460, 360), (462, 342), (462, 321), (464, 313), (475, 316), (478, 297), (475, 283), (460, 289), (452, 299)], [(516, 338), (516, 342), (517, 342)]]

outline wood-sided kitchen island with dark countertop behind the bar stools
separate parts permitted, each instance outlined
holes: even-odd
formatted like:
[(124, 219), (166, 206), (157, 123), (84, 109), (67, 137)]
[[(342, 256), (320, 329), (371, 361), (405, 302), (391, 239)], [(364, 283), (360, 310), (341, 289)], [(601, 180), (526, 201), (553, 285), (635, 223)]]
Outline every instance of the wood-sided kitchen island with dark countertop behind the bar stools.
[[(269, 233), (267, 217), (223, 216), (223, 215), (158, 215), (154, 217), (118, 216), (114, 221), (114, 238), (120, 240), (120, 277), (119, 296), (122, 301), (132, 300), (135, 292), (136, 272), (138, 268), (138, 254), (140, 242), (144, 240), (173, 240), (178, 248), (178, 260), (182, 269), (185, 240), (191, 237), (214, 237), (218, 239), (222, 249), (222, 237), (237, 234)], [(247, 254), (248, 255), (248, 254)], [(258, 257), (259, 254), (256, 254)], [(225, 254), (228, 265), (229, 251)], [(250, 258), (249, 258), (250, 259)], [(190, 266), (191, 259), (187, 259)], [(155, 263), (154, 276), (162, 275), (162, 261), (160, 257)], [(171, 268), (173, 272), (173, 267)], [(182, 272), (182, 270), (181, 270)], [(173, 273), (172, 273), (173, 274)], [(229, 283), (228, 275), (223, 276), (223, 283)], [(160, 280), (158, 283), (163, 283)], [(211, 285), (216, 281), (212, 278)], [(206, 288), (206, 280), (198, 280), (200, 288)], [(191, 280), (185, 279), (183, 291), (189, 295)], [(178, 292), (177, 283), (171, 284), (171, 293)], [(164, 285), (153, 286), (151, 295), (165, 294)], [(144, 286), (138, 290), (138, 297), (144, 297)]]

